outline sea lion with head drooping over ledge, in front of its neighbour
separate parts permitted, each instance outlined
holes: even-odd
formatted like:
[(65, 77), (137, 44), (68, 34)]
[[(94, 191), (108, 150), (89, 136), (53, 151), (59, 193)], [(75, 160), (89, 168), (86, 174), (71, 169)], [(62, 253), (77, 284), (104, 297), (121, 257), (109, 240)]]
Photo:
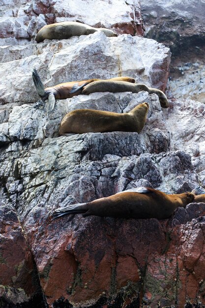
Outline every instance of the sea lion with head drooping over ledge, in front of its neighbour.
[(155, 93), (159, 97), (160, 105), (162, 108), (168, 108), (169, 103), (167, 96), (160, 90), (155, 88), (148, 88), (144, 84), (132, 84), (127, 81), (107, 81), (100, 80), (86, 85), (83, 88), (82, 94), (90, 94), (93, 92), (133, 92), (138, 93), (140, 91), (146, 91), (149, 94)]

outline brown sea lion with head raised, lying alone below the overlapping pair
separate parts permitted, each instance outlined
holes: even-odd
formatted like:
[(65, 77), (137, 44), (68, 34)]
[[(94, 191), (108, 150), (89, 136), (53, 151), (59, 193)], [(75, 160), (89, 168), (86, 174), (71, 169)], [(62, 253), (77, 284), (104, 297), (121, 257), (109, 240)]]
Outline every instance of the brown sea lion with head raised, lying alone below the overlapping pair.
[(77, 109), (67, 113), (59, 127), (59, 135), (108, 131), (141, 132), (146, 123), (149, 105), (144, 102), (128, 113)]

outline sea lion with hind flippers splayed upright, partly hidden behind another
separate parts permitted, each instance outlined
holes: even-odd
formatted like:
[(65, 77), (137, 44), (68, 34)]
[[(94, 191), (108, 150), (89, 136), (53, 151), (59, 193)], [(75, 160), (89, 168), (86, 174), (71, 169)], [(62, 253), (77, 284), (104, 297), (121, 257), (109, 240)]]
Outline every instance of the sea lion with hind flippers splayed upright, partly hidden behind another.
[[(83, 87), (88, 85), (91, 82), (98, 81), (101, 79), (88, 79), (82, 81), (71, 81), (65, 82), (53, 87), (44, 89), (44, 85), (38, 75), (37, 71), (33, 69), (32, 78), (35, 85), (35, 88), (38, 92), (38, 95), (43, 101), (48, 99), (48, 112), (51, 112), (54, 109), (56, 99), (66, 99), (71, 98), (74, 95), (81, 94)], [(115, 77), (107, 80), (121, 80), (135, 83), (135, 79), (132, 77)]]

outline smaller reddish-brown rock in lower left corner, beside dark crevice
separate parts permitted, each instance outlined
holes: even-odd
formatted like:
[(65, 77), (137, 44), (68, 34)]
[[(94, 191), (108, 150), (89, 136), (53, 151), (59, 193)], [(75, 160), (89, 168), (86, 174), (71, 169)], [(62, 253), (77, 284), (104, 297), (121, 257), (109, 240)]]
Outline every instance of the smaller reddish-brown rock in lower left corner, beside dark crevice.
[(33, 307), (34, 298), (44, 307), (36, 268), (16, 212), (0, 204), (0, 218), (0, 307), (21, 303)]

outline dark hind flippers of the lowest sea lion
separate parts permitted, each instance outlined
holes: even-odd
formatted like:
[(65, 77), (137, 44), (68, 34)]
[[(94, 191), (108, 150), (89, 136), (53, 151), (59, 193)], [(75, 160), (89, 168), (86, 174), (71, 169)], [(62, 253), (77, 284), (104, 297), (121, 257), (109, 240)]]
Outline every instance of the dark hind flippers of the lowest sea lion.
[(72, 205), (68, 205), (64, 208), (59, 208), (55, 210), (51, 216), (53, 218), (57, 218), (66, 214), (83, 214), (88, 211), (87, 203), (76, 203)]

